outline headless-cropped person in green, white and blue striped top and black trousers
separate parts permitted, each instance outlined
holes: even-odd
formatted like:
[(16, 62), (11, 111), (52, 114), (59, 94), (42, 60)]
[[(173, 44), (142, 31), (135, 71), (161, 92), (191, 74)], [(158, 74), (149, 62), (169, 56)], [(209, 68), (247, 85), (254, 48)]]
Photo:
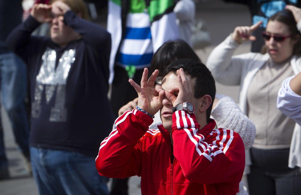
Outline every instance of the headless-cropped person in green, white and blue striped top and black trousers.
[[(178, 38), (173, 0), (109, 0), (107, 30), (111, 34), (111, 104), (118, 110), (137, 97), (128, 82), (141, 81), (154, 52), (166, 41)], [(122, 96), (120, 95), (122, 94)], [(128, 179), (113, 179), (111, 194), (128, 194)]]

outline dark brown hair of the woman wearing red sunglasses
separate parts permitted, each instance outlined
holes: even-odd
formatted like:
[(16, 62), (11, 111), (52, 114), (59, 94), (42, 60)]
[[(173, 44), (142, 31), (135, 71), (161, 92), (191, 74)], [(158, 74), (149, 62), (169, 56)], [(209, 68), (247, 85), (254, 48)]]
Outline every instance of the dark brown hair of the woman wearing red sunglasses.
[[(281, 11), (278, 11), (274, 15), (272, 15), (269, 19), (269, 21), (278, 21), (282, 22), (285, 25), (288, 26), (288, 29), (290, 31), (290, 34), (293, 35), (292, 39), (297, 39), (297, 43), (293, 47), (293, 55), (299, 55), (301, 56), (301, 34), (299, 30), (297, 29), (297, 23), (293, 16), (293, 13), (290, 10), (284, 9)], [(299, 35), (299, 36), (298, 36)]]

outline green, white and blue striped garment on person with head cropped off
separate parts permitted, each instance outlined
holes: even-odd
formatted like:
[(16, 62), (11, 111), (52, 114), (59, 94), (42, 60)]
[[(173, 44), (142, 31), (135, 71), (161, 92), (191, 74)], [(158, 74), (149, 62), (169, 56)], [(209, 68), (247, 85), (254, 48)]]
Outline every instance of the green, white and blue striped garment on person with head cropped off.
[(129, 8), (124, 29), (122, 1), (125, 0), (110, 0), (108, 6), (107, 31), (112, 38), (110, 83), (113, 81), (115, 64), (124, 67), (131, 77), (136, 69), (150, 66), (154, 52), (164, 42), (178, 38), (174, 1), (127, 0)]

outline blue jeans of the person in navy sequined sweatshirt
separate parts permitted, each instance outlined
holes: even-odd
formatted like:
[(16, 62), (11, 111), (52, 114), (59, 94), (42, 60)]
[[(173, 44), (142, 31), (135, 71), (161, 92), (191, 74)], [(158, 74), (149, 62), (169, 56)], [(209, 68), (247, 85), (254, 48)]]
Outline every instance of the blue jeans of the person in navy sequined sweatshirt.
[(39, 194), (105, 194), (108, 178), (100, 176), (95, 158), (77, 152), (30, 147)]

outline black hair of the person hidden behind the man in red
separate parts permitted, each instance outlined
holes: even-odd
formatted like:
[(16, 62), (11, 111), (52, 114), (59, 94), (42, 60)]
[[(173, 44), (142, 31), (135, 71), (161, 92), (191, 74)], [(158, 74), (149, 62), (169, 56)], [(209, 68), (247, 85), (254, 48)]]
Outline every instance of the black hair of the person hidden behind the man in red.
[(151, 60), (151, 67), (149, 73), (154, 70), (159, 70), (161, 76), (163, 70), (176, 59), (191, 58), (201, 62), (200, 58), (194, 50), (183, 40), (167, 41), (159, 47), (157, 52), (153, 55)]

